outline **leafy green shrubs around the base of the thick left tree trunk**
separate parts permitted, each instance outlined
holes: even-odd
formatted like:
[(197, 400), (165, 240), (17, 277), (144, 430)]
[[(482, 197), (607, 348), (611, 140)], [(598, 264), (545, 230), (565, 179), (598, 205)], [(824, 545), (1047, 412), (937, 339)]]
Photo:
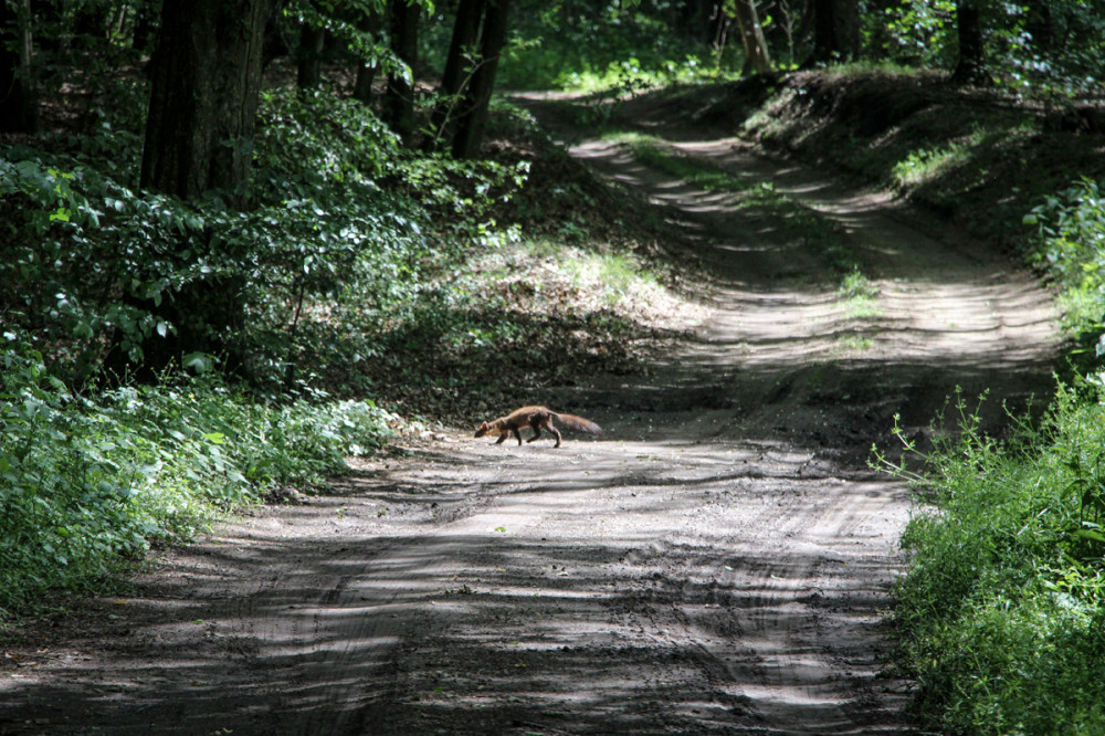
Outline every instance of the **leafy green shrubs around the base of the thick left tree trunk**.
[[(3, 150), (0, 278), (13, 288), (0, 299), (59, 346), (57, 375), (92, 375), (110, 346), (140, 362), (151, 340), (183, 333), (198, 343), (187, 349), (217, 346), (257, 386), (286, 386), (290, 366), (329, 349), (324, 304), (410, 299), (423, 270), (486, 240), (492, 207), (525, 179), (525, 165), (407, 151), (330, 94), (267, 94), (261, 116), (248, 212), (136, 193), (99, 159)], [(122, 143), (102, 137), (105, 154)]]

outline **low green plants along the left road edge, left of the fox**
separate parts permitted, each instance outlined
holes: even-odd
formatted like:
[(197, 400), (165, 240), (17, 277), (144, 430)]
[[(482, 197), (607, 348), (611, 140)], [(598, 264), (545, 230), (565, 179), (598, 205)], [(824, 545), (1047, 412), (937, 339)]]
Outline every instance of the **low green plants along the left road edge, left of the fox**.
[(189, 536), (218, 509), (277, 485), (322, 483), (387, 442), (371, 402), (256, 403), (213, 379), (95, 398), (0, 344), (0, 618), (46, 591), (87, 592), (151, 540)]

